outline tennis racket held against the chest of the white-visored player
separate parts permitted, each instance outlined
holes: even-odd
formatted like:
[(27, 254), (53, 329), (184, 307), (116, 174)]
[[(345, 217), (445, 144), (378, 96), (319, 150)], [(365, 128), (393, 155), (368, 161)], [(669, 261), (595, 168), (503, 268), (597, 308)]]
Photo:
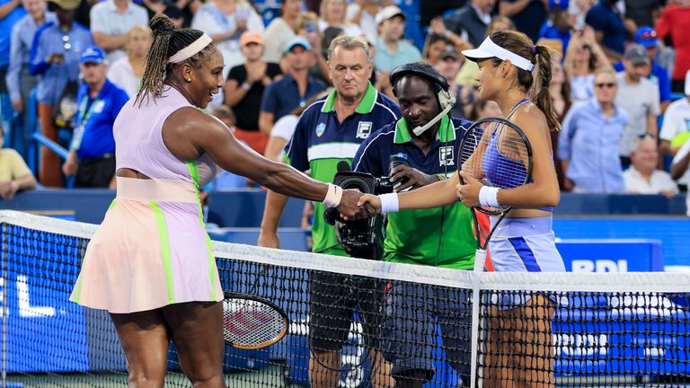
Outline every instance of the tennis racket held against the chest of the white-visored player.
[[(461, 170), (471, 174), (484, 186), (514, 189), (525, 185), (532, 176), (532, 146), (525, 132), (507, 119), (477, 120), (464, 133), (458, 153)], [(460, 181), (464, 183), (462, 177)], [(472, 210), (477, 234), (474, 269), (481, 270), (486, 260), (486, 247), (491, 235), (509, 213), (510, 207), (478, 206)], [(488, 234), (480, 229), (476, 212), (499, 217)]]

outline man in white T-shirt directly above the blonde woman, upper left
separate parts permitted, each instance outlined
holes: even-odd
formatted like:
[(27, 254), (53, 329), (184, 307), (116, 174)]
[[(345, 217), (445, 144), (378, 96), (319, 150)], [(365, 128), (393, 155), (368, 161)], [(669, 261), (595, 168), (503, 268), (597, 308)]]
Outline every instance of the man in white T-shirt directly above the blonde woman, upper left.
[(125, 57), (128, 32), (132, 27), (148, 25), (146, 8), (132, 0), (105, 0), (91, 8), (93, 42), (108, 53), (108, 63)]

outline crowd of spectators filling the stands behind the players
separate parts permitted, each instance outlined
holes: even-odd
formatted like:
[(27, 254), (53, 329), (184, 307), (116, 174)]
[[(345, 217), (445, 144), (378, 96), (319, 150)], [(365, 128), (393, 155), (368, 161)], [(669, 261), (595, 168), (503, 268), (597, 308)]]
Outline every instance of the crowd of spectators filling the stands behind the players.
[[(460, 51), (512, 29), (560, 53), (552, 83), (541, 87), (562, 122), (552, 136), (562, 190), (667, 197), (686, 190), (690, 0), (430, 3), (417, 18), (390, 0), (284, 0), (268, 17), (247, 0), (0, 0), (5, 145), (22, 145), (3, 151), (13, 154), (12, 166), (0, 154), (0, 196), (36, 185), (28, 168), (13, 167), (16, 157), (29, 157), (35, 131), (66, 148), (60, 156), (41, 147), (40, 184), (113, 186), (112, 123), (137, 94), (153, 40), (147, 24), (159, 13), (214, 40), (226, 84), (209, 111), (271, 159), (281, 158), (301, 111), (328, 91), (327, 48), (336, 36), (368, 41), (379, 93), (394, 97), (395, 66), (425, 61), (456, 94), (452, 114), (480, 119), (500, 110), (477, 99), (477, 66)], [(418, 22), (423, 45), (405, 36)], [(30, 128), (37, 121), (39, 129)], [(224, 173), (209, 189), (251, 184)]]

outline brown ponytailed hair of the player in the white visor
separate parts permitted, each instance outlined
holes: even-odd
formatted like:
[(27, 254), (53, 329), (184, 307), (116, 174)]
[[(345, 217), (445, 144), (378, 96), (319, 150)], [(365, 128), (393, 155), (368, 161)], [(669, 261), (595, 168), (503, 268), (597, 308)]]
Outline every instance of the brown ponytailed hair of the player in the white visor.
[[(535, 75), (525, 69), (517, 69), (517, 83), (525, 89), (527, 95), (535, 101), (537, 108), (544, 112), (549, 128), (558, 130), (561, 123), (551, 101), (549, 84), (551, 84), (551, 53), (545, 46), (535, 46), (532, 40), (522, 32), (500, 31), (491, 34), (491, 40), (510, 52), (528, 59), (535, 64)], [(494, 65), (498, 66), (503, 60), (493, 58)], [(535, 83), (536, 78), (536, 83)]]

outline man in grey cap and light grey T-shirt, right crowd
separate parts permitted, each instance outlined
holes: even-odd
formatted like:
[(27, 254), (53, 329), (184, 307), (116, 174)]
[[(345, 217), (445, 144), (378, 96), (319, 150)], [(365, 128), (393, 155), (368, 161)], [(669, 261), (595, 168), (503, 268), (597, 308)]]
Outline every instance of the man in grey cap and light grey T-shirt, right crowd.
[(638, 137), (645, 134), (654, 138), (659, 136), (657, 119), (661, 110), (659, 87), (646, 78), (651, 66), (647, 50), (638, 44), (631, 45), (625, 50), (623, 66), (625, 70), (617, 75), (618, 93), (615, 95), (615, 105), (628, 112), (630, 119), (618, 150), (621, 163), (627, 166)]

